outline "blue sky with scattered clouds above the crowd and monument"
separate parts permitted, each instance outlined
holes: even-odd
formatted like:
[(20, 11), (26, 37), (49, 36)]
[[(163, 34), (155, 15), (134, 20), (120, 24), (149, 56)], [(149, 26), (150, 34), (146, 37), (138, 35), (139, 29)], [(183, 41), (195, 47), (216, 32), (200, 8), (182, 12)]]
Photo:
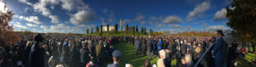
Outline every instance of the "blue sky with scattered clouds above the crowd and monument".
[(230, 0), (3, 0), (15, 13), (15, 31), (85, 33), (123, 22), (154, 31), (230, 29), (224, 14)]

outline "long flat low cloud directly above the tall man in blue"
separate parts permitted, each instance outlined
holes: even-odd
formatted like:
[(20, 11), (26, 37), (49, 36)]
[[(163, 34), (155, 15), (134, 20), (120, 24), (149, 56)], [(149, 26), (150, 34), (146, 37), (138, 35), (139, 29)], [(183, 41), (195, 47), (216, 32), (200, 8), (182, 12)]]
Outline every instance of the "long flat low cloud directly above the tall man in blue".
[(217, 30), (227, 31), (227, 30), (230, 30), (230, 28), (227, 28), (224, 25), (212, 25), (212, 26), (208, 26), (206, 30), (207, 31), (217, 31)]

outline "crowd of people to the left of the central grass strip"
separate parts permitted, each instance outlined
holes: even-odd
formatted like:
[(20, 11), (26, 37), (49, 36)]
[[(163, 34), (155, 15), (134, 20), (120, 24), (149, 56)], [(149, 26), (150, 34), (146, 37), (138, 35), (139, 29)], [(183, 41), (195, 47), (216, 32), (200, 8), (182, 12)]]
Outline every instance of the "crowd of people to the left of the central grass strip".
[(104, 67), (120, 56), (113, 49), (118, 36), (20, 37), (17, 44), (0, 47), (0, 67)]

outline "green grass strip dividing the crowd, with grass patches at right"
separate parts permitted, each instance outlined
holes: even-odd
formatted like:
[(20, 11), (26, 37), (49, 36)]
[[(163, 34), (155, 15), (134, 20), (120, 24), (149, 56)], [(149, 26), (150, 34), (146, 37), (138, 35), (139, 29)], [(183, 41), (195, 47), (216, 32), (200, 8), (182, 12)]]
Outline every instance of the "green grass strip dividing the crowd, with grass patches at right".
[[(121, 51), (121, 59), (120, 59), (120, 66), (125, 67), (125, 64), (132, 64), (133, 67), (143, 67), (144, 59), (148, 58), (148, 56), (137, 56), (136, 53), (136, 47), (132, 47), (127, 42), (117, 42), (116, 45), (114, 45), (115, 49), (118, 49)], [(250, 47), (249, 52), (253, 51), (253, 48)], [(148, 58), (149, 59), (149, 58)], [(154, 55), (154, 59), (150, 59), (151, 64), (156, 64), (158, 57)], [(252, 64), (249, 64), (249, 62), (255, 60), (255, 54), (253, 53), (247, 53), (246, 57), (238, 58), (238, 66), (237, 67), (253, 67)], [(176, 65), (176, 59), (172, 60), (172, 66)], [(181, 64), (179, 64), (179, 67), (181, 67)], [(255, 66), (254, 66), (255, 67)]]

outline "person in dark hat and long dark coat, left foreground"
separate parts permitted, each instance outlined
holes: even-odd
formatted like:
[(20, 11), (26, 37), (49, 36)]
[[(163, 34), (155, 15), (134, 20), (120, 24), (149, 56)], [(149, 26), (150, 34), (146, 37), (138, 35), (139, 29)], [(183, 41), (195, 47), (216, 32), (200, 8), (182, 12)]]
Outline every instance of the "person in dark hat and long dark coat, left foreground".
[(44, 67), (44, 37), (41, 34), (35, 36), (35, 44), (29, 55), (29, 67)]

